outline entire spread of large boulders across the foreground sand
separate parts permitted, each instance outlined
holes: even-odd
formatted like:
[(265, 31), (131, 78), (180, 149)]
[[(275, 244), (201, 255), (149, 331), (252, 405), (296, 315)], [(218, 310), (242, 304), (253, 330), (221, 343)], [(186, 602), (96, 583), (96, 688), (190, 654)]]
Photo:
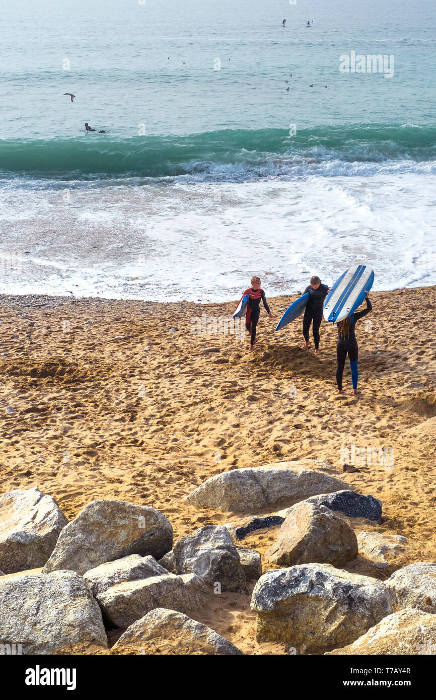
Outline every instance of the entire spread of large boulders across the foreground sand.
[[(211, 477), (188, 502), (249, 515), (175, 542), (167, 517), (151, 507), (95, 500), (67, 522), (39, 489), (4, 494), (0, 644), (20, 643), (23, 654), (105, 649), (115, 627), (125, 632), (113, 653), (241, 654), (190, 615), (221, 592), (248, 594), (254, 581), (260, 643), (299, 654), (430, 653), (436, 563), (397, 566), (384, 582), (344, 570), (358, 554), (376, 568), (399, 563), (407, 542), (377, 531), (356, 537), (344, 516), (380, 524), (381, 502), (332, 471), (304, 461)], [(281, 568), (262, 575), (260, 553), (240, 542), (277, 526), (265, 559)]]

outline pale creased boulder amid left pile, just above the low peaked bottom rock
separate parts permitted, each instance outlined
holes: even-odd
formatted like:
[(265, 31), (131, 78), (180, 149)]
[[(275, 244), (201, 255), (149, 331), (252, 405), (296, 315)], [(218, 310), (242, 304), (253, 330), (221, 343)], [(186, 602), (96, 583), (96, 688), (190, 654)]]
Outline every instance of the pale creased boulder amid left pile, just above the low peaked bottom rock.
[(84, 578), (115, 627), (127, 627), (153, 608), (190, 612), (209, 600), (199, 576), (168, 573), (153, 556), (131, 554), (87, 571)]

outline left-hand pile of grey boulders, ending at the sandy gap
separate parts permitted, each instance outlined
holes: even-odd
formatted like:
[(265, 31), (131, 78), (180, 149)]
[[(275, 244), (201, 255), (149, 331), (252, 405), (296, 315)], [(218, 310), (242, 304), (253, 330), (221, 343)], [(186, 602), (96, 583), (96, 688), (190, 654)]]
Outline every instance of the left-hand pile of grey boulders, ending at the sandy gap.
[(68, 523), (38, 489), (0, 499), (0, 563), (15, 574), (0, 580), (0, 644), (23, 654), (106, 648), (111, 627), (127, 628), (118, 651), (136, 640), (136, 653), (152, 653), (180, 633), (185, 653), (240, 654), (186, 613), (262, 575), (260, 554), (224, 526), (173, 542), (162, 513), (122, 500), (92, 501)]

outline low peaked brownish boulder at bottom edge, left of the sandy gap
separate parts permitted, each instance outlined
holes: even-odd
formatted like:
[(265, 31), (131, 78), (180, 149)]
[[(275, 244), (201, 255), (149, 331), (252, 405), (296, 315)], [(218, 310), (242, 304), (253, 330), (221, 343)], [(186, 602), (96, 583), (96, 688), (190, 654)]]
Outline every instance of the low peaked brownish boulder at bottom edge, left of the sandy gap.
[(242, 654), (210, 627), (175, 610), (155, 608), (137, 620), (113, 645), (123, 654)]

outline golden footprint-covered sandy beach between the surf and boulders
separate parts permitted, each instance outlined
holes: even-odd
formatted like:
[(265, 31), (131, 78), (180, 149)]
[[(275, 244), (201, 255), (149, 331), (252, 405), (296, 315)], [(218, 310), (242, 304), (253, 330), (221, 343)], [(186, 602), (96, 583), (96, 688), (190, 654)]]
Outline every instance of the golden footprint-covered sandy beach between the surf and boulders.
[[(321, 325), (320, 356), (302, 349), (301, 318), (274, 332), (296, 296), (268, 297), (274, 318), (262, 311), (253, 353), (248, 337), (192, 332), (204, 318), (213, 330), (236, 301), (0, 297), (0, 493), (38, 486), (68, 519), (100, 498), (152, 506), (178, 538), (243, 517), (185, 502), (212, 475), (328, 460), (333, 475), (383, 502), (380, 526), (347, 519), (356, 533), (407, 538), (397, 564), (374, 568), (358, 556), (350, 571), (385, 579), (407, 563), (435, 561), (436, 287), (371, 294), (373, 311), (356, 330), (358, 396), (348, 366), (346, 393), (336, 393), (330, 324)], [(363, 450), (385, 459), (368, 463)], [(344, 471), (357, 454), (357, 470)], [(278, 530), (241, 544), (264, 554)], [(244, 594), (222, 594), (192, 617), (246, 653), (285, 652), (255, 641)]]

